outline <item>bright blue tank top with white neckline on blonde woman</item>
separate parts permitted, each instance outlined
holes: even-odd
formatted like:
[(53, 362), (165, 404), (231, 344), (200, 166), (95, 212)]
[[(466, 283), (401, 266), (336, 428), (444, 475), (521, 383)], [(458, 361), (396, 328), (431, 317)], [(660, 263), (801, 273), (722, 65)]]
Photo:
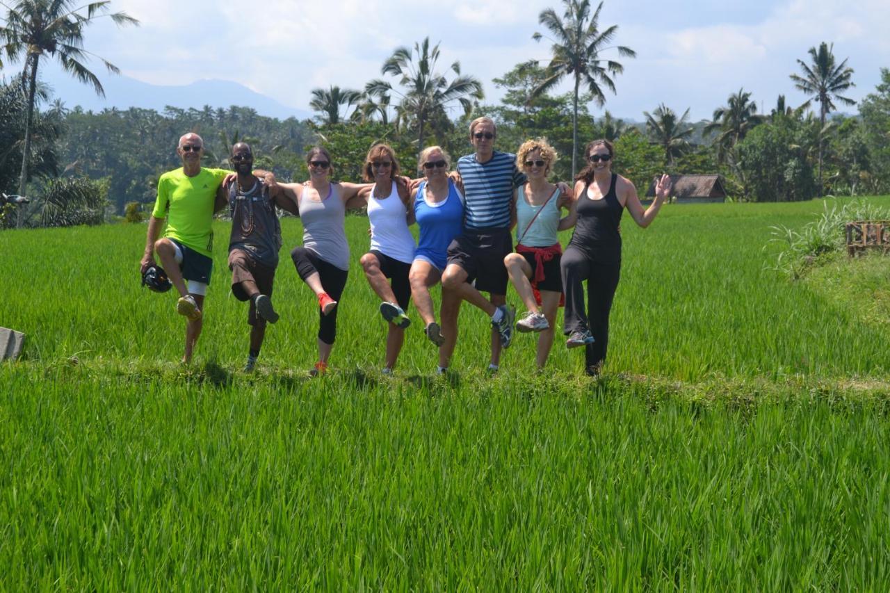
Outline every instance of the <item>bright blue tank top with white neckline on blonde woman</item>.
[(415, 258), (427, 259), (440, 270), (445, 269), (449, 244), (464, 230), (464, 200), (450, 179), (448, 185), (448, 198), (434, 206), (424, 198), (426, 182), (420, 183), (414, 198), (414, 216), (420, 227)]

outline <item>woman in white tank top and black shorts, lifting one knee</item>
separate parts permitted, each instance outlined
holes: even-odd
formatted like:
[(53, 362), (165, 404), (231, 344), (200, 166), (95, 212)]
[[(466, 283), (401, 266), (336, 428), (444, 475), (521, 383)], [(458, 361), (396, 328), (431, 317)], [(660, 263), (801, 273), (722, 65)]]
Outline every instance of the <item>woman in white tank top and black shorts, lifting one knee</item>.
[[(411, 297), (409, 271), (414, 261), (414, 208), (408, 184), (399, 176), (399, 161), (387, 144), (375, 144), (365, 158), (365, 181), (373, 182), (360, 196), (368, 201), (371, 248), (361, 256), (368, 284), (380, 297), (380, 313), (388, 321), (384, 374), (392, 373), (411, 320), (405, 314)], [(391, 282), (387, 282), (389, 279)]]

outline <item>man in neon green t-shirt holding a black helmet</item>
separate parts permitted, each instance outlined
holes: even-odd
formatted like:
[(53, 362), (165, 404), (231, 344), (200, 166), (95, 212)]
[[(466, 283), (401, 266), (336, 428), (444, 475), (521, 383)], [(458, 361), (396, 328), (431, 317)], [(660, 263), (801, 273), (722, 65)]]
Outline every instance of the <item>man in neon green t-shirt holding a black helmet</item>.
[[(158, 180), (158, 199), (140, 265), (144, 272), (155, 263), (157, 252), (161, 266), (179, 291), (176, 312), (188, 319), (182, 362), (188, 363), (201, 335), (201, 311), (213, 271), (214, 211), (225, 205), (221, 185), (231, 172), (201, 167), (204, 141), (198, 134), (183, 135), (176, 152), (182, 158), (182, 168), (168, 171)], [(165, 218), (166, 231), (158, 239)]]

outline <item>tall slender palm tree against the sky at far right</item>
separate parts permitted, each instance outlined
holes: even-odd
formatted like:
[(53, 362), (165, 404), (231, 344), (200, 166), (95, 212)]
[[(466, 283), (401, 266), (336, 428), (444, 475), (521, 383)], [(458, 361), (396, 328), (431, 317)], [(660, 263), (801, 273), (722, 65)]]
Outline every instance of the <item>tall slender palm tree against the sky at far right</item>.
[[(791, 80), (798, 91), (803, 91), (811, 95), (810, 99), (804, 103), (809, 105), (813, 100), (819, 102), (819, 122), (821, 128), (825, 127), (825, 117), (837, 106), (834, 101), (844, 103), (845, 105), (855, 105), (853, 99), (842, 96), (845, 90), (854, 86), (853, 69), (846, 65), (846, 60), (835, 64), (835, 57), (832, 50), (834, 44), (828, 45), (824, 41), (819, 44), (819, 49), (810, 48), (811, 63), (807, 65), (803, 60), (798, 60), (804, 76), (797, 74), (791, 75)], [(819, 139), (819, 195), (822, 195), (822, 142)]]

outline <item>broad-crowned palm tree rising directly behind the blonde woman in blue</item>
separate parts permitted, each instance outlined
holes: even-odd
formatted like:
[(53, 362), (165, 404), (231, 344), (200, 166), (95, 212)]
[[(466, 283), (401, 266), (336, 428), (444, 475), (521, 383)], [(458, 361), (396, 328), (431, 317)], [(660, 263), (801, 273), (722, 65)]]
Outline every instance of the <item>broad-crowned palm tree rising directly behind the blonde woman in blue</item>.
[(401, 124), (417, 126), (417, 150), (424, 149), (426, 126), (445, 115), (449, 103), (458, 102), (465, 114), (473, 110), (473, 99), (483, 97), (482, 83), (476, 77), (462, 75), (460, 62), (450, 69), (457, 75), (450, 81), (436, 70), (439, 62), (439, 44), (430, 47), (430, 38), (414, 44), (414, 49), (399, 47), (384, 61), (382, 74), (398, 77), (401, 90), (393, 88), (386, 80), (368, 82), (365, 92), (377, 97), (380, 104), (392, 104), (393, 94), (398, 95), (396, 117)]

